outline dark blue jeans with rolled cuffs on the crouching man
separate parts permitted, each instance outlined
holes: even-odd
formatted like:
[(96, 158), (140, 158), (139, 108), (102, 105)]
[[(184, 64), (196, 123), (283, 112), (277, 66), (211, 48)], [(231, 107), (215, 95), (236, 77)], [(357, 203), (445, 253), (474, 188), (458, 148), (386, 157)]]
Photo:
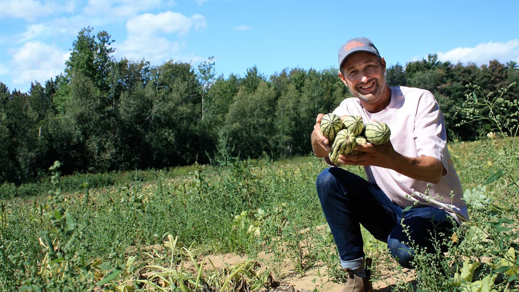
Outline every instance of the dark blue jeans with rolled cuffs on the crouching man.
[[(435, 253), (432, 239), (442, 242), (440, 236), (450, 236), (453, 232), (454, 218), (445, 210), (417, 205), (404, 211), (376, 184), (342, 168), (324, 169), (316, 185), (324, 217), (345, 269), (349, 268), (349, 262), (358, 262), (365, 256), (360, 224), (377, 240), (387, 243), (393, 258), (405, 268), (413, 268), (412, 246)], [(446, 251), (445, 246), (442, 249)]]

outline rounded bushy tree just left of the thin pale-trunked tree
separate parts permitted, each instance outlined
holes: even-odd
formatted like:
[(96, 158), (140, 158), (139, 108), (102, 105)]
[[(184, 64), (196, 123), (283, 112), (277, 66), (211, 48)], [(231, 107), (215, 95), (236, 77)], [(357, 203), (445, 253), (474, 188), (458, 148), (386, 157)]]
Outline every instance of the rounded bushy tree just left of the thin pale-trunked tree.
[(146, 94), (153, 104), (146, 140), (154, 166), (194, 163), (201, 150), (197, 134), (201, 85), (197, 76), (190, 64), (173, 61), (152, 69), (151, 75), (146, 83)]

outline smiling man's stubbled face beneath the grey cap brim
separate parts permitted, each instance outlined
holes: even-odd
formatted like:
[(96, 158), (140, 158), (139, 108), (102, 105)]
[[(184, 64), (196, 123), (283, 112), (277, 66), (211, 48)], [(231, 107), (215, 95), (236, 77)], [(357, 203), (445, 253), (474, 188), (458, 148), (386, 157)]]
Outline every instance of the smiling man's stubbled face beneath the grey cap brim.
[(340, 79), (351, 94), (366, 104), (376, 104), (386, 92), (386, 61), (369, 52), (356, 52), (343, 63)]

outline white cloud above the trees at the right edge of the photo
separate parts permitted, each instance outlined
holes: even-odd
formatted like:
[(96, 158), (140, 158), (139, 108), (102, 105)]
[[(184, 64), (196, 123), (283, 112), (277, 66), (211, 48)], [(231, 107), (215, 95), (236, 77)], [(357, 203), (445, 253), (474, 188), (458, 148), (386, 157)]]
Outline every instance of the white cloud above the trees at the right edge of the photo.
[(497, 59), (501, 63), (508, 61), (519, 62), (519, 39), (512, 39), (506, 43), (482, 43), (475, 47), (458, 47), (446, 52), (438, 52), (438, 59), (457, 63), (474, 62), (477, 65), (488, 64)]

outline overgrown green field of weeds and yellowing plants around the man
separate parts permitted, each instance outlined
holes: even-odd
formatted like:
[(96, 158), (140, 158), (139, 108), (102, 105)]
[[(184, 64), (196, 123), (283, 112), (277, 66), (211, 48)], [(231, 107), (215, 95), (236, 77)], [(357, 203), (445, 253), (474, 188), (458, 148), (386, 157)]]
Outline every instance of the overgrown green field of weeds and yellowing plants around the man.
[[(403, 281), (394, 290), (517, 290), (518, 188), (511, 181), (518, 173), (501, 170), (517, 163), (509, 145), (449, 144), (472, 221), (448, 254), (432, 255), (440, 261), (417, 257), (414, 286)], [(62, 178), (57, 166), (47, 190), (25, 185), (30, 195), (13, 196), (3, 186), (1, 290), (275, 290), (272, 279), (282, 278), (286, 261), (299, 275), (327, 266), (330, 281), (346, 280), (315, 190), (326, 165), (315, 157)], [(384, 244), (365, 234), (365, 249), (378, 260), (375, 277), (394, 272)], [(228, 253), (247, 260), (211, 264), (210, 255)]]

